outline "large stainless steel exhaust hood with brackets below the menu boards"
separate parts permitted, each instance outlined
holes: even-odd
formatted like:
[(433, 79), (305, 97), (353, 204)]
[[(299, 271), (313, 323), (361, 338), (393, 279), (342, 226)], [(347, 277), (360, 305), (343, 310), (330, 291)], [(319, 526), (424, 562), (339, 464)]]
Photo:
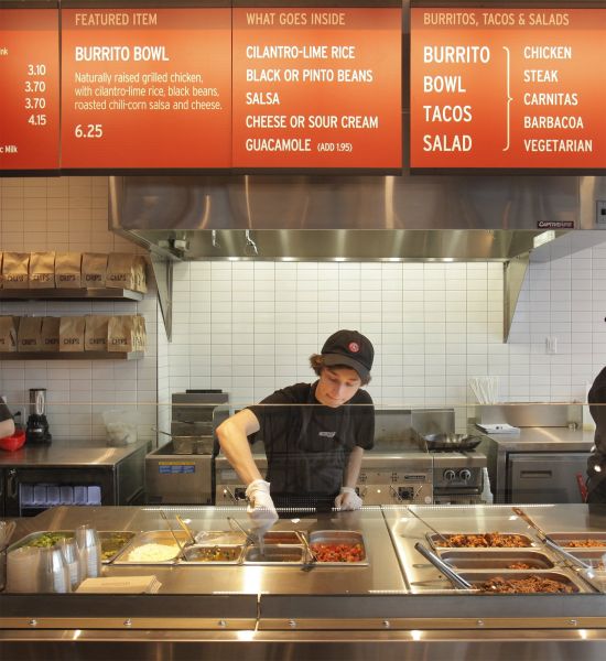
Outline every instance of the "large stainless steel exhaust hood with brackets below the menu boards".
[[(585, 177), (595, 178), (595, 177)], [(497, 260), (507, 338), (528, 254), (585, 219), (573, 176), (110, 177), (110, 227), (152, 254), (171, 336), (173, 260)], [(591, 201), (582, 204), (581, 192)], [(515, 260), (515, 261), (512, 261)], [(509, 266), (515, 268), (508, 268)]]

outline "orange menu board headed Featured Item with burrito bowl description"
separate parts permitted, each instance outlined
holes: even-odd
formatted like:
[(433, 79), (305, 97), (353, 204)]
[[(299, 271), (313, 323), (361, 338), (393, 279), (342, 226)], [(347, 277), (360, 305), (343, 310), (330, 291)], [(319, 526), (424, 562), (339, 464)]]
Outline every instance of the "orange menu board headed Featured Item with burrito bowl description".
[(231, 164), (230, 8), (63, 9), (62, 167)]

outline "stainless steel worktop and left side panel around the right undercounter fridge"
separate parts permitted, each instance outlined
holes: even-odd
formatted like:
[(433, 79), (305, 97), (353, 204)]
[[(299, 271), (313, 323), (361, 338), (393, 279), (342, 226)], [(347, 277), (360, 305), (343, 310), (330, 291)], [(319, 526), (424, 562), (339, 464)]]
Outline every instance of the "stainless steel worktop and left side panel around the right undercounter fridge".
[[(477, 433), (475, 426), (470, 431)], [(495, 502), (507, 502), (507, 460), (516, 453), (588, 453), (594, 432), (567, 427), (521, 427), (519, 434), (483, 434), (481, 449), (488, 457), (488, 472)]]

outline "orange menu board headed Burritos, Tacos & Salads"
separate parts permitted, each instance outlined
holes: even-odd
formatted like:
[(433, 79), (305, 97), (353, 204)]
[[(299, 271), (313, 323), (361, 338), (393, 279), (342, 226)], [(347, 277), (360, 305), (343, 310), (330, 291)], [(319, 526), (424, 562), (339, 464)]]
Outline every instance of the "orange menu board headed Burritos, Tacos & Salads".
[(413, 8), (410, 165), (606, 169), (606, 11)]

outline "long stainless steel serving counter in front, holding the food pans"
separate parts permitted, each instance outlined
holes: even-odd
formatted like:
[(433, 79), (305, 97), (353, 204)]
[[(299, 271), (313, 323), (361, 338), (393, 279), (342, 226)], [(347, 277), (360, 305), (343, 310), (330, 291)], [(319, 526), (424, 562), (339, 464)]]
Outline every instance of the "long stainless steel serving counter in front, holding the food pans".
[[(547, 531), (605, 531), (606, 508), (537, 506)], [(246, 522), (244, 508), (165, 508), (196, 530)], [(519, 532), (506, 506), (415, 506), (443, 532)], [(174, 518), (172, 518), (174, 520)], [(165, 529), (154, 508), (56, 508), (20, 520), (15, 537), (65, 530)], [(281, 519), (281, 530), (357, 530), (361, 566), (112, 566), (107, 575), (155, 574), (154, 595), (0, 594), (7, 659), (567, 659), (606, 655), (606, 594), (478, 594), (455, 590), (414, 550), (429, 529), (404, 507)], [(37, 654), (37, 655), (36, 655)]]

